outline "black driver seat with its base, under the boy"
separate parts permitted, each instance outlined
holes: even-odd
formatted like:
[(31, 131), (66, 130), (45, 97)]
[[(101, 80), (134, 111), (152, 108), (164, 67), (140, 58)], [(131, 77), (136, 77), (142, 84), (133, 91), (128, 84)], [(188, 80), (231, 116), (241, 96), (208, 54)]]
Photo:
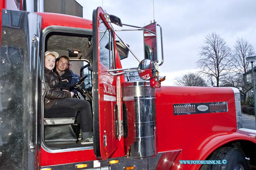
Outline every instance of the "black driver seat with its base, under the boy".
[(46, 144), (73, 144), (78, 140), (77, 110), (73, 107), (52, 107), (44, 110)]

